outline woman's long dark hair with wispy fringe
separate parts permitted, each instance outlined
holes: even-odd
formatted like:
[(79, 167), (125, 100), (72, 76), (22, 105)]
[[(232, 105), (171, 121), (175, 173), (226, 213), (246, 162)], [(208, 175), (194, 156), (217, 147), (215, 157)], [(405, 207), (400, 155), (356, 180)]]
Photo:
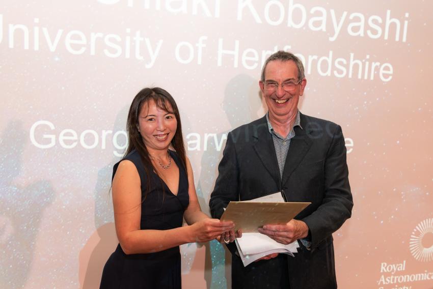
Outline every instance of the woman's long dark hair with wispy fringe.
[[(179, 109), (177, 108), (176, 102), (173, 97), (165, 90), (161, 88), (145, 88), (142, 89), (136, 97), (132, 100), (131, 106), (129, 107), (128, 119), (126, 124), (126, 130), (128, 132), (128, 148), (126, 149), (125, 156), (136, 150), (143, 162), (144, 169), (147, 175), (147, 190), (146, 193), (150, 190), (150, 171), (149, 168), (153, 168), (156, 172), (156, 168), (153, 166), (152, 161), (149, 156), (149, 152), (143, 142), (143, 138), (138, 130), (139, 127), (139, 114), (144, 104), (148, 104), (150, 100), (153, 100), (156, 104), (156, 107), (162, 109), (166, 112), (173, 113), (176, 117), (177, 127), (176, 133), (172, 141), (170, 142), (172, 148), (176, 151), (179, 156), (180, 162), (185, 169), (186, 176), (188, 175), (186, 168), (186, 154), (185, 147), (183, 144), (183, 136), (182, 136), (182, 125), (180, 122)], [(171, 109), (169, 109), (170, 106)]]

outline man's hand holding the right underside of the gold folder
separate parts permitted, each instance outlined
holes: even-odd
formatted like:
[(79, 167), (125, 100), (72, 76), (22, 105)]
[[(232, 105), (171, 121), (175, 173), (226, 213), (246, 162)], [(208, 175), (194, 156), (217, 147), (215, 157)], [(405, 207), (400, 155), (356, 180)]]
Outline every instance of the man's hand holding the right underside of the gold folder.
[(263, 228), (258, 228), (258, 231), (285, 245), (308, 236), (307, 224), (294, 219), (290, 220), (287, 224), (264, 225)]

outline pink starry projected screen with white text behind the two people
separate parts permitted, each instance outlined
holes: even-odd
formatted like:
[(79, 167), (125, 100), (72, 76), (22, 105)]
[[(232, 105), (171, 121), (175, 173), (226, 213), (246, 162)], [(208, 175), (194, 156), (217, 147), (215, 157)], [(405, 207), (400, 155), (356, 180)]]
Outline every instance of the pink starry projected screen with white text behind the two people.
[[(433, 287), (378, 284), (392, 275), (381, 272), (382, 263), (405, 261), (400, 275), (433, 272), (431, 259), (419, 261), (410, 250), (417, 225), (433, 218), (433, 4), (300, 0), (293, 3), (305, 8), (306, 22), (296, 28), (287, 23), (300, 23), (302, 13), (292, 7), (291, 18), (289, 1), (146, 3), (2, 3), (0, 288), (99, 286), (117, 245), (112, 168), (126, 145), (129, 104), (144, 86), (175, 98), (200, 205), (209, 213), (225, 137), (265, 113), (261, 65), (267, 51), (285, 47), (306, 60), (301, 111), (340, 124), (346, 145), (353, 143), (347, 162), (355, 207), (334, 234), (339, 287)], [(310, 12), (314, 7), (326, 11), (322, 30), (308, 24), (322, 15)], [(400, 23), (398, 41), (396, 24), (384, 36), (387, 11)], [(331, 41), (331, 14), (339, 21), (345, 12)], [(363, 35), (360, 16), (349, 19), (351, 13), (364, 16)], [(383, 20), (375, 22), (382, 27), (377, 39), (367, 35), (374, 15)], [(351, 28), (358, 36), (348, 34), (349, 23), (358, 23)], [(331, 73), (324, 75), (328, 64), (319, 71), (318, 60), (330, 52)], [(392, 79), (381, 80), (377, 69), (360, 79), (357, 65), (351, 77), (348, 65), (336, 76), (342, 71), (335, 60), (349, 61), (351, 53), (364, 69), (389, 63)], [(431, 230), (423, 236), (422, 246), (433, 248)], [(184, 287), (231, 287), (230, 255), (219, 243), (183, 245), (181, 253)]]

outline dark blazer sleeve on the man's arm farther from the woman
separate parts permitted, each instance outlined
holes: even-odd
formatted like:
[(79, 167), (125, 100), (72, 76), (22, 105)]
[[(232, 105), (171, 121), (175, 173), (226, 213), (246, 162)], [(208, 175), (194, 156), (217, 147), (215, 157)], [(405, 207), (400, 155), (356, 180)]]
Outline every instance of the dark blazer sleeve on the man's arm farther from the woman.
[(336, 126), (324, 161), (322, 204), (303, 218), (310, 229), (312, 249), (330, 237), (351, 216), (353, 198), (348, 174), (344, 137), (341, 127)]

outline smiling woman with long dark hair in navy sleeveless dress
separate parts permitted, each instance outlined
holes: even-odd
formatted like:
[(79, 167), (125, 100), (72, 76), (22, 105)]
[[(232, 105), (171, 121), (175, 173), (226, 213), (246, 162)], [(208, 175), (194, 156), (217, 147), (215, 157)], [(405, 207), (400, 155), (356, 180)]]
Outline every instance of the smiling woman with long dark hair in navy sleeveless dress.
[(232, 242), (234, 224), (200, 210), (179, 111), (168, 92), (140, 91), (129, 108), (127, 131), (125, 157), (113, 168), (119, 245), (100, 288), (180, 288), (179, 245), (220, 236)]

